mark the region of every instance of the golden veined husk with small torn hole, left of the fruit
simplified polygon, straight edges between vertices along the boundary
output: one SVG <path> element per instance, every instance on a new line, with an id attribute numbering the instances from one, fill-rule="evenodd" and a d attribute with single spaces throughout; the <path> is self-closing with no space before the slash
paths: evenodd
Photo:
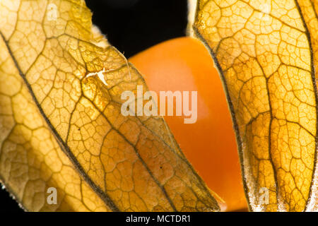
<path id="1" fill-rule="evenodd" d="M 49 4 L 57 6 L 56 20 L 48 19 Z M 122 54 L 92 28 L 91 13 L 84 1 L 1 1 L 0 12 L 1 22 L 5 22 L 0 27 L 1 51 L 6 52 L 1 62 L 9 62 L 11 67 L 1 67 L 1 77 L 10 71 L 31 106 L 28 114 L 16 113 L 19 123 L 28 127 L 28 132 L 20 129 L 20 133 L 23 136 L 30 133 L 25 137 L 25 143 L 30 145 L 23 143 L 21 151 L 40 152 L 46 160 L 48 150 L 45 149 L 50 146 L 42 144 L 44 147 L 37 148 L 30 139 L 42 138 L 42 133 L 35 133 L 37 128 L 48 133 L 47 142 L 54 144 L 57 155 L 50 157 L 48 162 L 38 160 L 41 167 L 52 167 L 63 177 L 64 184 L 74 184 L 73 178 L 81 182 L 81 189 L 61 187 L 65 196 L 76 194 L 81 204 L 84 196 L 91 196 L 90 202 L 85 203 L 88 210 L 100 210 L 101 201 L 105 210 L 114 211 L 219 210 L 216 200 L 184 158 L 161 117 L 124 117 L 120 113 L 122 92 L 136 93 L 137 85 L 143 85 L 146 92 L 146 84 Z M 104 74 L 107 85 L 98 76 L 86 78 L 88 73 L 102 69 L 107 71 Z M 8 88 L 4 90 L 8 92 Z M 19 93 L 17 90 L 6 95 L 8 106 L 14 106 L 13 96 Z M 5 104 L 1 101 L 1 105 Z M 12 123 L 11 126 L 8 122 L 1 123 L 8 127 L 1 131 L 2 147 L 8 139 L 15 141 L 10 134 L 18 119 L 10 111 L 13 110 L 7 107 L 0 112 L 3 122 L 11 120 Z M 40 127 L 36 122 L 41 122 Z M 16 151 L 11 147 L 10 153 L 17 155 Z M 10 174 L 16 172 L 12 169 L 14 161 L 4 151 L 1 156 L 1 161 L 5 162 L 0 165 L 4 184 L 8 184 L 28 210 L 44 210 L 45 189 L 28 194 L 24 200 L 25 190 L 11 183 Z M 72 174 L 61 173 L 56 163 L 60 156 L 69 161 Z M 15 169 L 17 167 L 20 165 Z M 24 162 L 24 167 L 33 176 L 33 165 Z M 41 167 L 37 169 L 37 180 L 42 186 L 48 186 L 49 172 Z M 35 188 L 31 176 L 15 175 Z M 93 195 L 88 195 L 89 192 Z M 30 200 L 33 206 L 29 205 Z M 69 206 L 75 208 L 76 204 Z"/>

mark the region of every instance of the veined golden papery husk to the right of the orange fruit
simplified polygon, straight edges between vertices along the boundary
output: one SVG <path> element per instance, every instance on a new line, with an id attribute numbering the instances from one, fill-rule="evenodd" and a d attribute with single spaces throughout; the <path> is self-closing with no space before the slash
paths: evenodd
<path id="1" fill-rule="evenodd" d="M 194 33 L 225 83 L 251 210 L 314 210 L 317 89 L 304 18 L 293 0 L 197 1 Z"/>

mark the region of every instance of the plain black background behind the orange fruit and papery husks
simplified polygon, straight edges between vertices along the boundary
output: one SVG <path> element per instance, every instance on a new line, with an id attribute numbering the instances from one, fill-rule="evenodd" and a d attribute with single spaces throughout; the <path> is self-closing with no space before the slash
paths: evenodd
<path id="1" fill-rule="evenodd" d="M 108 41 L 129 58 L 148 47 L 185 35 L 187 0 L 86 0 Z M 0 211 L 22 211 L 0 189 Z"/>

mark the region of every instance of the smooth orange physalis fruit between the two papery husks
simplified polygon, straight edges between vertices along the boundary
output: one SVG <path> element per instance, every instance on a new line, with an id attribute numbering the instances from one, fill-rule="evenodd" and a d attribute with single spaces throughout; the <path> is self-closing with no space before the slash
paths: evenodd
<path id="1" fill-rule="evenodd" d="M 184 117 L 165 120 L 196 172 L 223 198 L 226 210 L 246 210 L 230 111 L 220 76 L 204 44 L 192 37 L 177 38 L 129 61 L 158 96 L 159 91 L 198 91 L 195 124 L 184 124 Z"/>

